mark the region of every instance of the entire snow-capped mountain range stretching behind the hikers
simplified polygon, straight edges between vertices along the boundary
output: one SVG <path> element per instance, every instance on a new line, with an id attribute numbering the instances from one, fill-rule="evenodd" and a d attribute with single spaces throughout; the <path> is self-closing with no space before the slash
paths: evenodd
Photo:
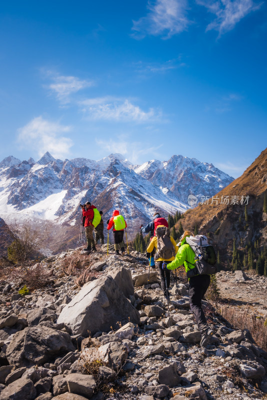
<path id="1" fill-rule="evenodd" d="M 26 216 L 75 226 L 80 223 L 79 203 L 89 200 L 106 219 L 119 209 L 134 232 L 155 210 L 165 217 L 184 212 L 188 194 L 212 195 L 231 180 L 212 164 L 182 156 L 139 166 L 121 154 L 98 161 L 62 161 L 48 152 L 37 162 L 9 156 L 0 163 L 0 216 L 7 222 Z"/>

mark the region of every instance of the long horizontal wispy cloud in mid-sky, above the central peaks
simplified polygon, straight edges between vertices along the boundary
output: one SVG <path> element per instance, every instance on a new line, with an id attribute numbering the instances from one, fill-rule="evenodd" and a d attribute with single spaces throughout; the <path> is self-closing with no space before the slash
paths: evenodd
<path id="1" fill-rule="evenodd" d="M 158 120 L 160 111 L 149 108 L 143 111 L 138 105 L 132 104 L 127 98 L 112 96 L 87 98 L 79 102 L 82 111 L 90 119 L 147 122 Z"/>

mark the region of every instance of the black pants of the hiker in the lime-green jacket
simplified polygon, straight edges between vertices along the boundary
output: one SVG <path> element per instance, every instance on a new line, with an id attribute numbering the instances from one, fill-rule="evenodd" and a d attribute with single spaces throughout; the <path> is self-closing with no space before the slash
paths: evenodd
<path id="1" fill-rule="evenodd" d="M 202 310 L 201 300 L 210 283 L 209 275 L 196 275 L 189 279 L 189 303 L 198 329 L 204 332 L 207 329 L 206 317 Z"/>

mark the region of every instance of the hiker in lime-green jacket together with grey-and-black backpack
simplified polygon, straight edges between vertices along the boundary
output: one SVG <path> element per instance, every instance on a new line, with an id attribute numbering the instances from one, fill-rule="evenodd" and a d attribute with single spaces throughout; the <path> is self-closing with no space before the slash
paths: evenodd
<path id="1" fill-rule="evenodd" d="M 170 270 L 184 265 L 189 280 L 189 303 L 191 311 L 201 332 L 200 345 L 205 346 L 213 340 L 214 331 L 208 327 L 201 300 L 208 289 L 210 274 L 216 273 L 216 255 L 204 235 L 194 236 L 185 230 L 180 237 L 180 247 L 175 259 L 163 267 Z"/>

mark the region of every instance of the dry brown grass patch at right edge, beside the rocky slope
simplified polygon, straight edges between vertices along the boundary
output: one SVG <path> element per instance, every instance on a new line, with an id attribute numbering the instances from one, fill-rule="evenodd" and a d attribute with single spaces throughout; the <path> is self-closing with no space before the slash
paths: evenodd
<path id="1" fill-rule="evenodd" d="M 219 313 L 234 328 L 248 329 L 255 343 L 267 351 L 267 326 L 263 318 L 249 312 L 248 306 L 243 310 L 238 310 L 235 307 L 220 304 Z"/>

